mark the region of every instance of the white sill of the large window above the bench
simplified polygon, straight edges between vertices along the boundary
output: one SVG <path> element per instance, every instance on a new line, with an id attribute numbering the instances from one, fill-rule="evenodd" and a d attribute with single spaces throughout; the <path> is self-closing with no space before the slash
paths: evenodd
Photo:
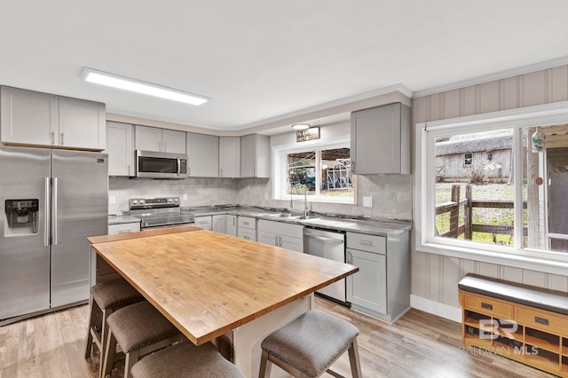
<path id="1" fill-rule="evenodd" d="M 435 242 L 416 246 L 416 251 L 418 252 L 568 276 L 568 255 L 566 254 L 542 251 L 533 252 L 515 248 L 510 248 L 509 250 L 510 252 L 464 248 Z"/>

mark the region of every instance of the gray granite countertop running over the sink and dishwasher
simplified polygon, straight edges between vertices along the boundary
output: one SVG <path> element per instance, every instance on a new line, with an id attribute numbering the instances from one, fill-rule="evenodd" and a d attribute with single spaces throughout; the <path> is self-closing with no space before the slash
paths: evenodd
<path id="1" fill-rule="evenodd" d="M 275 214 L 289 213 L 288 209 L 243 207 L 239 205 L 203 206 L 182 208 L 182 212 L 194 216 L 231 214 L 241 217 L 256 217 L 276 222 L 302 224 L 308 227 L 334 229 L 375 235 L 389 235 L 406 232 L 412 228 L 412 222 L 398 219 L 378 219 L 371 217 L 344 217 L 335 214 L 311 213 L 310 219 L 300 219 L 302 213 L 293 212 L 292 217 L 274 217 Z"/>

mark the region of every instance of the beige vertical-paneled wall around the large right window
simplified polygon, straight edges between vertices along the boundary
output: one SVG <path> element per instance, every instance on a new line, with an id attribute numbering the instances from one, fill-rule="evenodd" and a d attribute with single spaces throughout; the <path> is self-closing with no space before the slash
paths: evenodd
<path id="1" fill-rule="evenodd" d="M 566 100 L 568 66 L 562 66 L 414 98 L 413 122 L 438 121 Z M 467 272 L 568 291 L 568 277 L 565 276 L 413 250 L 412 294 L 426 302 L 459 307 L 457 283 Z"/>

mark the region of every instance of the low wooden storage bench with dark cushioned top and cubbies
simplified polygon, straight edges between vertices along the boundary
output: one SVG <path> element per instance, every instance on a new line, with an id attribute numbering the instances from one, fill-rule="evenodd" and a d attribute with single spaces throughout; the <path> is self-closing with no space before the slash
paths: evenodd
<path id="1" fill-rule="evenodd" d="M 467 275 L 459 283 L 466 346 L 568 377 L 568 295 Z"/>

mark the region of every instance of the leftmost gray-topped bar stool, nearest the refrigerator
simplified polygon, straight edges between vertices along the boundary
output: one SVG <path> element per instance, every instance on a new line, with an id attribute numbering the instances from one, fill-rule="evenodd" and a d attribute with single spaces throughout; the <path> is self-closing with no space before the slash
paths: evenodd
<path id="1" fill-rule="evenodd" d="M 108 335 L 108 325 L 106 318 L 114 311 L 121 309 L 132 303 L 144 300 L 138 291 L 124 279 L 108 280 L 99 282 L 91 287 L 91 320 L 87 330 L 87 346 L 85 348 L 85 358 L 91 358 L 93 343 L 97 345 L 100 353 L 100 366 Z"/>

